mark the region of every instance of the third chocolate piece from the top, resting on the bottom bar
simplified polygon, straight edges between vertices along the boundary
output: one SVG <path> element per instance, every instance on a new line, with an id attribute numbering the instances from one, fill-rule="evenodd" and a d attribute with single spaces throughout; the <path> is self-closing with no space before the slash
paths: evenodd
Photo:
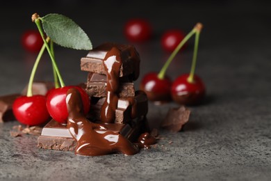
<path id="1" fill-rule="evenodd" d="M 106 100 L 102 97 L 90 108 L 89 118 L 100 120 L 101 106 Z M 146 116 L 148 112 L 147 95 L 143 91 L 136 91 L 135 97 L 120 97 L 115 111 L 115 123 L 129 123 L 134 118 Z"/>

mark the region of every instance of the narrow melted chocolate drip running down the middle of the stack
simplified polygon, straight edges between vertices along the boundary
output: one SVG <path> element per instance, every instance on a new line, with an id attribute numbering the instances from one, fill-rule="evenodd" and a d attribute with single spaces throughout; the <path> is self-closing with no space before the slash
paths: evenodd
<path id="1" fill-rule="evenodd" d="M 104 123 L 114 123 L 115 110 L 119 100 L 119 77 L 122 58 L 120 49 L 113 47 L 104 58 L 104 68 L 106 70 L 107 86 L 106 86 L 106 101 L 101 106 L 101 121 Z"/>

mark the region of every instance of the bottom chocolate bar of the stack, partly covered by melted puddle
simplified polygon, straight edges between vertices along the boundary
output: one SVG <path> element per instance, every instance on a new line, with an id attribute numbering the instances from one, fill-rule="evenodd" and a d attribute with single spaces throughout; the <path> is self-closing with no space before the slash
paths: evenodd
<path id="1" fill-rule="evenodd" d="M 140 127 L 144 120 L 134 120 L 133 126 L 124 124 L 106 124 L 106 132 L 115 132 L 124 136 L 129 141 L 135 141 L 140 134 Z M 99 123 L 103 125 L 103 123 Z M 99 132 L 99 130 L 96 130 Z M 76 148 L 76 141 L 72 139 L 66 125 L 61 125 L 55 120 L 51 120 L 42 129 L 41 136 L 38 137 L 38 148 L 45 148 L 51 150 L 74 150 Z"/>

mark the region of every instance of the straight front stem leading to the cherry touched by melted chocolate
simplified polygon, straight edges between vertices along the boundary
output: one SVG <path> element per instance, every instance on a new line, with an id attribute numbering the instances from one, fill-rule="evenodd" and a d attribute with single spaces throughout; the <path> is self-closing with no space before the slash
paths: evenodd
<path id="1" fill-rule="evenodd" d="M 49 56 L 51 58 L 51 62 L 53 64 L 53 66 L 54 66 L 54 70 L 56 70 L 56 74 L 58 75 L 60 86 L 64 87 L 65 84 L 64 84 L 64 81 L 63 81 L 63 79 L 61 77 L 61 74 L 60 74 L 60 72 L 58 70 L 58 65 L 56 65 L 56 60 L 55 60 L 54 56 L 51 54 L 51 50 L 50 50 L 50 47 L 49 47 L 47 41 L 44 39 L 44 33 L 43 33 L 43 30 L 42 30 L 42 26 L 40 24 L 40 17 L 35 19 L 35 24 L 38 26 L 38 30 L 40 31 L 40 35 L 42 36 L 42 40 L 43 40 L 43 42 L 44 42 L 44 44 L 46 46 L 46 49 L 47 49 L 47 51 L 49 53 Z"/>

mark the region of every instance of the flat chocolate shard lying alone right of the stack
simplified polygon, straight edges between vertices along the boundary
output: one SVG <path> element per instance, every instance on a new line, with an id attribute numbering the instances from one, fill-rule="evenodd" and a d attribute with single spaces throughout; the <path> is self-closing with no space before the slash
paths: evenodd
<path id="1" fill-rule="evenodd" d="M 185 125 L 190 117 L 190 110 L 184 106 L 177 108 L 170 108 L 167 116 L 161 123 L 161 127 L 170 130 L 171 132 L 179 132 L 183 125 Z"/>

